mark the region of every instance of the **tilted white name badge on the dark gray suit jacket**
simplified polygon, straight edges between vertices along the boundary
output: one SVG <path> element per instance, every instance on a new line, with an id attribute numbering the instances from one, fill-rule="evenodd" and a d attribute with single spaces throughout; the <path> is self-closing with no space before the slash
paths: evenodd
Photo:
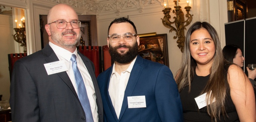
<path id="1" fill-rule="evenodd" d="M 45 67 L 48 75 L 67 71 L 67 66 L 66 66 L 64 60 L 51 62 L 51 63 L 45 63 L 44 67 Z"/>

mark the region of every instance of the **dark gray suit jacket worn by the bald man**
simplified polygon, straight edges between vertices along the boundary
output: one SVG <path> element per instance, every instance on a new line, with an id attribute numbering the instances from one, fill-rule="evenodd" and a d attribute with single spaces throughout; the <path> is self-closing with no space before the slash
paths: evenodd
<path id="1" fill-rule="evenodd" d="M 103 107 L 93 63 L 81 53 L 96 92 L 99 121 Z M 45 63 L 58 61 L 47 45 L 43 50 L 15 62 L 10 106 L 12 122 L 85 122 L 85 113 L 67 72 L 47 75 Z"/>

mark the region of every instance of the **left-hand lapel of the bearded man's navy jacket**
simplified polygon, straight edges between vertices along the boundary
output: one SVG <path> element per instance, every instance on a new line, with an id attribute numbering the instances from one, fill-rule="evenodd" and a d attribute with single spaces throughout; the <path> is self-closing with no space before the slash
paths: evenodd
<path id="1" fill-rule="evenodd" d="M 117 119 L 117 116 L 116 116 L 116 111 L 113 107 L 113 104 L 112 104 L 112 101 L 111 101 L 111 98 L 110 98 L 110 95 L 109 95 L 109 92 L 108 92 L 108 87 L 109 87 L 109 82 L 110 82 L 110 77 L 111 77 L 111 73 L 112 73 L 112 70 L 113 70 L 113 65 L 110 67 L 111 70 L 109 70 L 106 74 L 109 74 L 109 75 L 106 75 L 106 80 L 107 82 L 105 82 L 105 87 L 104 87 L 104 94 L 105 94 L 105 98 L 107 100 L 107 104 L 108 104 L 108 107 L 114 117 L 114 119 L 116 120 L 116 122 L 118 121 Z"/>

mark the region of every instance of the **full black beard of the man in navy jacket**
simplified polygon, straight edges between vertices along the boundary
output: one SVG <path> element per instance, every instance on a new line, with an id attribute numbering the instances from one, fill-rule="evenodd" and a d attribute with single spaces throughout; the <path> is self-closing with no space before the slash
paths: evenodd
<path id="1" fill-rule="evenodd" d="M 118 48 L 129 48 L 129 51 L 124 53 L 124 51 L 120 51 L 121 53 L 117 52 Z M 111 60 L 118 63 L 130 63 L 133 61 L 133 59 L 138 55 L 138 43 L 134 43 L 133 47 L 127 46 L 127 45 L 118 45 L 116 47 L 112 47 L 109 44 L 108 49 Z"/>

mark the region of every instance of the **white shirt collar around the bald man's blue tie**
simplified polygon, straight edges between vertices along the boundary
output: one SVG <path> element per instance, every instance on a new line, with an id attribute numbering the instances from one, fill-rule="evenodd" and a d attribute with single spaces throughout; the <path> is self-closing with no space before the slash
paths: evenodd
<path id="1" fill-rule="evenodd" d="M 68 51 L 62 47 L 59 47 L 59 46 L 53 44 L 52 42 L 49 42 L 49 45 L 56 55 L 61 56 L 62 58 L 66 59 L 68 62 L 70 62 L 72 54 L 76 55 L 76 61 L 79 62 L 79 59 L 77 57 L 77 55 L 78 55 L 77 49 L 74 51 L 74 53 L 71 53 L 70 51 Z"/>

